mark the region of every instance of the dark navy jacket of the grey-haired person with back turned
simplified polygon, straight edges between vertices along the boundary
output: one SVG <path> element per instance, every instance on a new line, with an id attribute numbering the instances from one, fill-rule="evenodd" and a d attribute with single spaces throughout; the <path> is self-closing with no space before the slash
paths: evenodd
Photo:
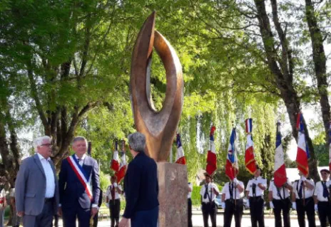
<path id="1" fill-rule="evenodd" d="M 158 206 L 158 167 L 144 152 L 138 153 L 128 164 L 124 191 L 125 218 L 131 218 L 137 211 L 148 211 Z"/>

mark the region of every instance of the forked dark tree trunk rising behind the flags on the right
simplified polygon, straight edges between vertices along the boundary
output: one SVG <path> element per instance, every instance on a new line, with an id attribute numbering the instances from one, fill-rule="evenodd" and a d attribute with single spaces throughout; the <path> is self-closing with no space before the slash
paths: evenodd
<path id="1" fill-rule="evenodd" d="M 280 23 L 277 18 L 277 1 L 271 1 L 273 7 L 273 21 L 275 23 L 275 28 L 277 34 L 280 38 L 280 44 L 282 46 L 282 56 L 278 56 L 275 49 L 275 38 L 273 32 L 271 31 L 270 20 L 268 14 L 265 10 L 265 1 L 264 0 L 255 0 L 255 6 L 258 13 L 258 21 L 260 33 L 263 39 L 263 46 L 265 48 L 265 54 L 268 60 L 268 67 L 273 73 L 275 83 L 277 88 L 280 90 L 280 95 L 282 100 L 285 102 L 287 109 L 287 114 L 290 118 L 290 124 L 292 127 L 292 135 L 297 141 L 297 113 L 300 112 L 300 98 L 297 95 L 297 92 L 293 86 L 293 65 L 292 65 L 292 56 L 291 51 L 287 43 L 287 38 L 285 33 L 280 27 Z M 281 59 L 280 61 L 278 59 Z M 280 65 L 280 66 L 278 66 Z M 305 127 L 305 138 L 310 151 L 310 176 L 315 180 L 320 179 L 320 175 L 317 171 L 317 162 L 315 160 L 314 147 L 312 147 L 312 140 L 310 139 L 309 132 L 307 130 L 307 125 L 304 121 Z"/>

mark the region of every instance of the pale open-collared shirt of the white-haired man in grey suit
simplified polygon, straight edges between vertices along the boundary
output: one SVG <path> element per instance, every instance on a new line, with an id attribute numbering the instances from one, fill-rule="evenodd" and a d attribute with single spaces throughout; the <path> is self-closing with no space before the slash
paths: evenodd
<path id="1" fill-rule="evenodd" d="M 55 179 L 54 179 L 54 172 L 51 168 L 51 164 L 49 161 L 50 158 L 45 159 L 41 154 L 37 153 L 40 159 L 41 165 L 43 166 L 44 173 L 46 176 L 46 192 L 45 198 L 53 198 L 55 193 Z"/>

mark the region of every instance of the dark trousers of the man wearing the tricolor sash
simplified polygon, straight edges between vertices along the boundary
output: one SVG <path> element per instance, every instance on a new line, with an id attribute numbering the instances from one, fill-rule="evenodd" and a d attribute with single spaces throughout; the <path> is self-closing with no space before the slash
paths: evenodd
<path id="1" fill-rule="evenodd" d="M 72 206 L 62 206 L 63 226 L 76 227 L 76 218 L 78 218 L 79 227 L 90 227 L 91 208 L 82 208 L 77 202 Z"/>

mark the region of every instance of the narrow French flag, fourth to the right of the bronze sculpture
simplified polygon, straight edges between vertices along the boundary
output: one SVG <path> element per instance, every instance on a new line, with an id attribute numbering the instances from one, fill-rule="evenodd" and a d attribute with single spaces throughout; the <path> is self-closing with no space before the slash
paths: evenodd
<path id="1" fill-rule="evenodd" d="M 245 167 L 250 172 L 254 174 L 256 171 L 256 162 L 254 156 L 254 143 L 252 139 L 252 129 L 253 129 L 253 120 L 252 118 L 245 120 L 245 131 L 247 133 L 247 143 L 245 151 Z"/>

